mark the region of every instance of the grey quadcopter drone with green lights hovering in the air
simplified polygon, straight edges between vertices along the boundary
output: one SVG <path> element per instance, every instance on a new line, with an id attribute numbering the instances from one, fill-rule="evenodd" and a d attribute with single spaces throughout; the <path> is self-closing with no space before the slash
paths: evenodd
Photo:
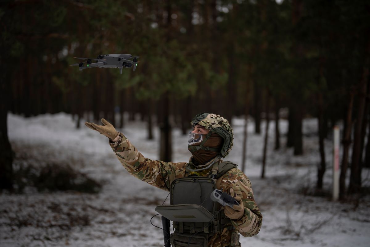
<path id="1" fill-rule="evenodd" d="M 88 68 L 119 68 L 120 74 L 122 74 L 122 68 L 131 68 L 134 66 L 134 71 L 136 69 L 136 66 L 138 65 L 138 56 L 132 57 L 131 54 L 107 54 L 107 55 L 99 55 L 96 59 L 90 59 L 85 57 L 74 57 L 81 60 L 86 60 L 82 63 L 75 63 L 71 64 L 71 66 L 77 66 L 80 67 L 80 71 L 83 69 Z M 129 60 L 133 58 L 132 60 Z M 96 63 L 92 63 L 92 60 L 96 61 Z M 84 63 L 86 65 L 84 66 Z"/>

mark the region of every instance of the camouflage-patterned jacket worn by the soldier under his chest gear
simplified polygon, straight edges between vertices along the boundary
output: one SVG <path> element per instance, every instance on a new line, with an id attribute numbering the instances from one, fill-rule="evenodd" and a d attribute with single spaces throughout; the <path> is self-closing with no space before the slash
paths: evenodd
<path id="1" fill-rule="evenodd" d="M 186 171 L 187 162 L 172 163 L 145 158 L 121 133 L 120 140 L 115 143 L 110 141 L 110 146 L 130 174 L 162 190 L 169 191 L 176 178 L 191 175 Z M 262 224 L 262 214 L 255 203 L 250 181 L 242 171 L 233 168 L 225 173 L 221 180 L 221 189 L 233 197 L 242 198 L 244 216 L 239 220 L 231 220 L 235 230 L 224 228 L 221 234 L 210 237 L 208 246 L 212 247 L 229 246 L 233 231 L 238 231 L 244 237 L 252 237 L 259 232 Z"/>

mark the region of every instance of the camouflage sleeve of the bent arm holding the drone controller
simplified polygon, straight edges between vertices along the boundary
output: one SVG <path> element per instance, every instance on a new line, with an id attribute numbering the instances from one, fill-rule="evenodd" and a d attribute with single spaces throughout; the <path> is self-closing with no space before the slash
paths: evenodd
<path id="1" fill-rule="evenodd" d="M 235 229 L 244 237 L 258 234 L 262 225 L 262 214 L 254 200 L 252 185 L 248 177 L 238 168 L 233 168 L 223 176 L 221 188 L 233 197 L 242 198 L 244 216 L 239 220 L 231 220 Z"/>

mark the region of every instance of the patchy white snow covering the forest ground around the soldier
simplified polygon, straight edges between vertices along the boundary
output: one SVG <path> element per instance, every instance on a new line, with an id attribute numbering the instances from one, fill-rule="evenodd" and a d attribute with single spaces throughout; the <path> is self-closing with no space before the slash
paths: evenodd
<path id="1" fill-rule="evenodd" d="M 71 115 L 46 114 L 24 118 L 8 115 L 9 139 L 14 151 L 28 158 L 70 164 L 101 181 L 98 194 L 37 192 L 27 188 L 23 194 L 0 194 L 0 246 L 163 246 L 162 230 L 151 226 L 155 206 L 162 204 L 166 191 L 132 176 L 115 158 L 106 137 L 85 127 L 76 129 Z M 227 160 L 241 162 L 243 119 L 233 119 L 233 150 Z M 262 124 L 262 130 L 264 130 Z M 370 198 L 358 204 L 339 203 L 329 197 L 307 196 L 316 184 L 319 164 L 315 119 L 303 123 L 304 155 L 293 150 L 273 151 L 272 123 L 269 128 L 266 178 L 260 178 L 263 133 L 253 133 L 248 123 L 245 173 L 252 181 L 256 202 L 263 214 L 260 233 L 241 237 L 242 246 L 369 246 Z M 280 122 L 286 133 L 287 122 Z M 146 140 L 146 125 L 127 123 L 124 133 L 145 157 L 158 159 L 158 129 L 155 140 Z M 187 136 L 174 129 L 173 161 L 187 161 Z M 324 192 L 330 193 L 332 144 L 326 141 L 327 171 Z M 240 167 L 240 166 L 239 166 Z M 369 187 L 363 170 L 364 184 Z M 168 203 L 168 202 L 166 202 Z M 160 217 L 152 222 L 161 226 Z"/>

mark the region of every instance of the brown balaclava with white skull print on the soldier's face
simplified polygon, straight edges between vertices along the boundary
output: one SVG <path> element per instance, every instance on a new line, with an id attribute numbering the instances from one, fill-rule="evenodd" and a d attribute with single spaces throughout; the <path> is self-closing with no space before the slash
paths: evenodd
<path id="1" fill-rule="evenodd" d="M 196 134 L 199 135 L 199 134 Z M 204 138 L 206 134 L 201 138 Z M 200 136 L 200 135 L 199 135 Z M 196 137 L 197 138 L 197 137 Z M 190 142 L 190 138 L 189 138 Z M 217 133 L 212 132 L 211 137 L 208 138 L 208 140 L 203 144 L 203 147 L 210 147 L 210 148 L 216 148 L 217 150 L 221 150 L 223 144 L 223 139 L 221 136 L 219 136 Z M 191 146 L 199 146 L 200 142 L 198 143 L 189 143 Z M 190 151 L 190 149 L 189 149 Z M 220 155 L 219 151 L 211 151 L 211 150 L 204 150 L 204 149 L 199 149 L 196 151 L 192 152 L 193 158 L 194 158 L 194 164 L 201 166 L 206 164 L 209 160 L 212 158 Z"/>

